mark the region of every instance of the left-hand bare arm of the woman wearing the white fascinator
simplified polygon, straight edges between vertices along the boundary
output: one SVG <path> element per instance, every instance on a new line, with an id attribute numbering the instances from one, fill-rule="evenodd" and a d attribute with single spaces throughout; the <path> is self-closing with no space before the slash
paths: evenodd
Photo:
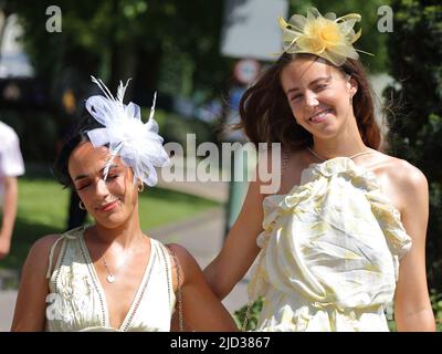
<path id="1" fill-rule="evenodd" d="M 55 235 L 41 238 L 32 246 L 28 254 L 22 269 L 12 332 L 44 331 L 45 301 L 49 293 L 45 275 L 50 249 L 57 238 L 59 236 Z M 54 259 L 56 259 L 56 252 L 54 252 Z"/>

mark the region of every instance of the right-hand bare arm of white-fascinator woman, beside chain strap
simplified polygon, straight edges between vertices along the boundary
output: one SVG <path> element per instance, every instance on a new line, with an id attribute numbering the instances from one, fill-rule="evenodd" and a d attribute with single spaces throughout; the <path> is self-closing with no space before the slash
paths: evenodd
<path id="1" fill-rule="evenodd" d="M 194 258 L 182 247 L 169 244 L 180 267 L 180 287 L 185 331 L 238 331 L 232 316 L 213 294 Z M 173 264 L 173 288 L 178 288 L 177 264 Z M 172 319 L 172 331 L 179 330 L 179 303 Z"/>

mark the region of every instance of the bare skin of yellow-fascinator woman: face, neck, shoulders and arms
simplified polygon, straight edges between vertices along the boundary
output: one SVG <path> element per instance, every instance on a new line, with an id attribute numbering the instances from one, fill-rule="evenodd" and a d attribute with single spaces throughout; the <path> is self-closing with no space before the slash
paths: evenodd
<path id="1" fill-rule="evenodd" d="M 382 192 L 399 210 L 413 242 L 400 262 L 394 294 L 397 329 L 434 331 L 425 272 L 427 178 L 406 160 L 370 149 L 364 144 L 351 101 L 358 85 L 351 76 L 324 60 L 307 56 L 297 58 L 284 67 L 281 84 L 294 119 L 313 135 L 313 149 L 319 156 L 328 159 L 371 152 L 354 158 L 354 162 L 375 174 Z M 325 114 L 317 115 L 320 112 Z M 292 152 L 277 194 L 291 191 L 301 184 L 302 171 L 311 164 L 320 162 L 307 149 Z M 265 164 L 270 169 L 271 154 Z M 204 269 L 208 282 L 220 299 L 227 296 L 244 277 L 261 250 L 256 246 L 256 237 L 263 231 L 262 204 L 266 195 L 261 192 L 261 187 L 264 184 L 260 179 L 250 183 L 242 210 L 229 231 L 223 249 Z"/>

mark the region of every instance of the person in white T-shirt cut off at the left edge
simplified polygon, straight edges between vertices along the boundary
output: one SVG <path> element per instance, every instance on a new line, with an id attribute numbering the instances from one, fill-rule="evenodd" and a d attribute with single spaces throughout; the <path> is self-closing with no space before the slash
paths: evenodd
<path id="1" fill-rule="evenodd" d="M 8 256 L 17 217 L 18 176 L 24 174 L 20 140 L 15 132 L 0 122 L 0 259 Z"/>

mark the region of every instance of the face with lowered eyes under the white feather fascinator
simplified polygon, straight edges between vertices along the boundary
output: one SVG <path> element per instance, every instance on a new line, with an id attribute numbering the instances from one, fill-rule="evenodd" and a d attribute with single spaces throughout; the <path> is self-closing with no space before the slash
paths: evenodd
<path id="1" fill-rule="evenodd" d="M 116 156 L 104 180 L 104 167 L 109 159 L 107 147 L 94 148 L 81 143 L 69 158 L 69 173 L 80 198 L 91 216 L 105 228 L 116 228 L 138 210 L 134 174 Z"/>

